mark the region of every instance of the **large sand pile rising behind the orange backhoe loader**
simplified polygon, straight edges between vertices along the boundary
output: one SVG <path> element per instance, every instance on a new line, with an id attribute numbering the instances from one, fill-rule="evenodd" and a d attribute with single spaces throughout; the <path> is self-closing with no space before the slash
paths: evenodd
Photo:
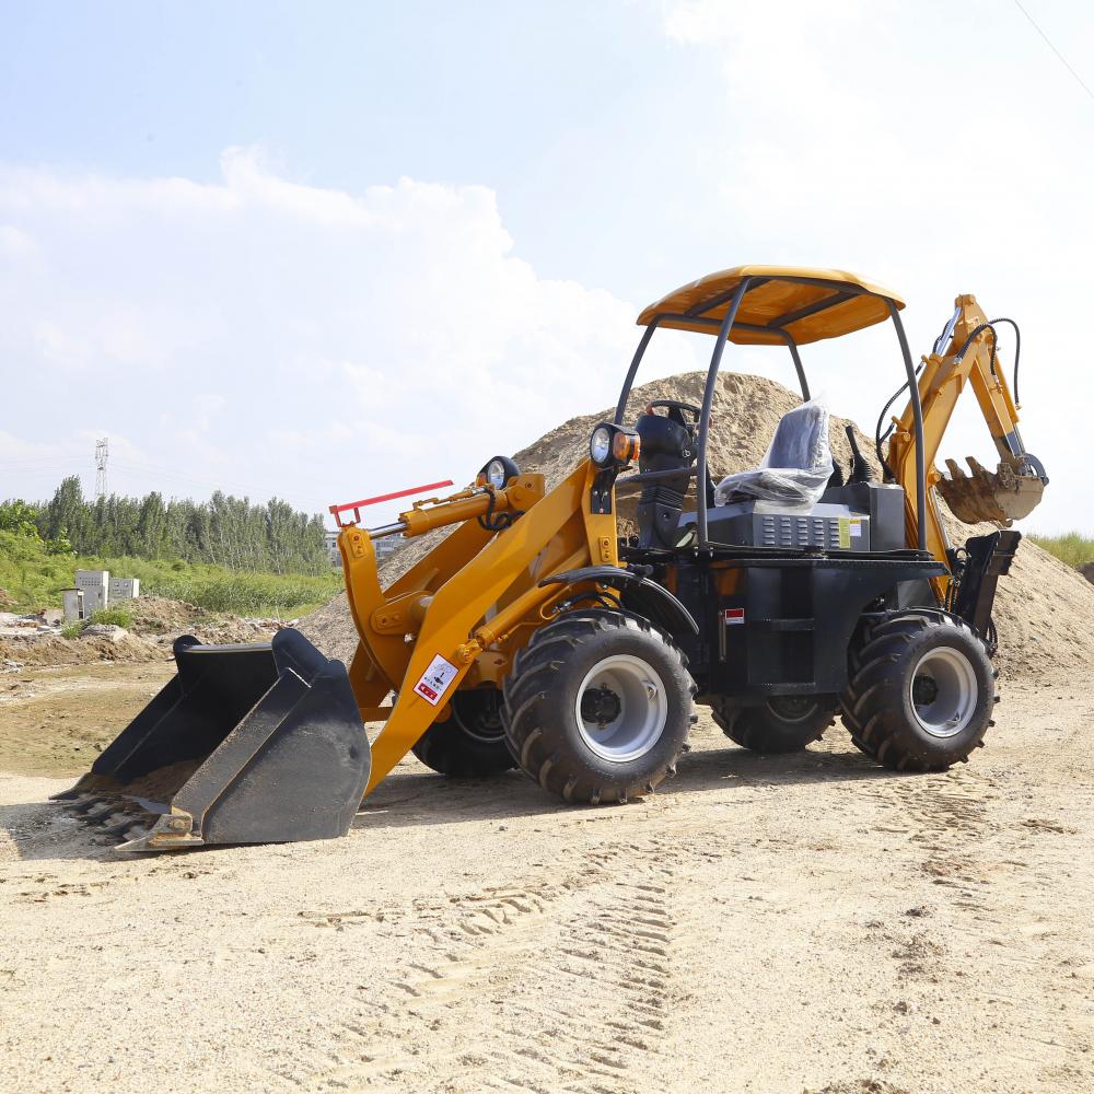
<path id="1" fill-rule="evenodd" d="M 628 404 L 627 421 L 632 421 L 651 399 L 677 399 L 698 405 L 702 399 L 705 374 L 700 372 L 653 381 L 636 388 Z M 711 414 L 708 463 L 715 481 L 723 475 L 755 467 L 763 458 L 775 428 L 787 410 L 796 406 L 800 396 L 759 376 L 722 373 Z M 587 452 L 589 434 L 598 421 L 610 419 L 613 410 L 571 418 L 516 453 L 522 470 L 539 472 L 548 488 L 566 477 Z M 843 432 L 843 419 L 831 419 L 833 457 L 846 469 L 851 450 Z M 854 427 L 859 449 L 877 473 L 873 442 Z M 635 499 L 621 498 L 620 514 L 633 512 Z M 969 526 L 947 517 L 954 543 L 970 535 L 991 531 L 987 525 Z M 439 534 L 434 534 L 437 536 Z M 399 550 L 384 567 L 385 584 L 394 581 L 437 539 L 415 540 Z M 1075 671 L 1090 673 L 1094 666 L 1094 585 L 1064 566 L 1036 544 L 1025 540 L 1011 568 L 1000 580 L 994 619 L 1000 649 L 997 662 L 1011 676 L 1041 677 L 1059 671 L 1062 676 Z M 302 619 L 300 629 L 328 656 L 348 661 L 357 648 L 357 633 L 349 616 L 345 593 L 325 607 Z"/>

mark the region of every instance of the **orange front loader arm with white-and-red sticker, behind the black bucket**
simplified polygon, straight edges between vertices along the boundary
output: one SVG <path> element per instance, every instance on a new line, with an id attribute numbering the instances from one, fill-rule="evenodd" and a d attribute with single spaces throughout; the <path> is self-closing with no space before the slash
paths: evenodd
<path id="1" fill-rule="evenodd" d="M 540 626 L 572 594 L 543 584 L 590 563 L 618 566 L 614 507 L 593 512 L 596 468 L 585 461 L 546 497 L 543 477 L 522 475 L 493 493 L 463 491 L 400 514 L 406 536 L 459 524 L 388 590 L 380 587 L 370 533 L 339 534 L 350 610 L 360 643 L 350 673 L 363 721 L 383 720 L 372 744 L 372 791 L 465 683 L 500 683 L 510 640 Z M 517 514 L 484 531 L 487 512 Z M 476 679 L 467 680 L 469 674 Z M 395 691 L 391 708 L 379 703 Z"/>

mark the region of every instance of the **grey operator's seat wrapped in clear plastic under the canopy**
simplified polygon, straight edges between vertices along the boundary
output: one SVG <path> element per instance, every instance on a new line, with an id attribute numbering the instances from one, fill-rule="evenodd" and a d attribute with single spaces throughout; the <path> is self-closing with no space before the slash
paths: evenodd
<path id="1" fill-rule="evenodd" d="M 718 484 L 714 504 L 761 500 L 810 510 L 821 500 L 833 469 L 828 410 L 810 400 L 782 416 L 759 467 L 726 475 Z"/>

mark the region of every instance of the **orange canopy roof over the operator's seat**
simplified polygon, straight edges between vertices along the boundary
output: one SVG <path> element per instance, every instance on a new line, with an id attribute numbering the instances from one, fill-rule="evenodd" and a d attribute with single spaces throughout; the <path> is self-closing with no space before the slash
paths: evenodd
<path id="1" fill-rule="evenodd" d="M 746 277 L 754 278 L 755 284 L 745 292 L 730 334 L 730 340 L 742 346 L 784 345 L 779 331 L 789 334 L 799 346 L 838 338 L 887 319 L 886 300 L 904 307 L 895 292 L 847 270 L 735 266 L 668 293 L 647 307 L 638 322 L 648 326 L 657 315 L 668 313 L 675 317 L 662 319 L 659 326 L 717 334 L 718 327 L 710 321 L 725 318 L 733 290 Z"/>

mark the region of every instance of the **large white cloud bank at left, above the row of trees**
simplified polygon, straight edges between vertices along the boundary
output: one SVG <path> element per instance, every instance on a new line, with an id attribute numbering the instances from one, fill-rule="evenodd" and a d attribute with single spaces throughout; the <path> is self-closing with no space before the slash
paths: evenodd
<path id="1" fill-rule="evenodd" d="M 240 149 L 222 170 L 201 185 L 0 168 L 14 432 L 46 416 L 54 437 L 125 433 L 118 490 L 222 485 L 321 510 L 467 481 L 613 401 L 635 307 L 539 278 L 491 190 L 351 195 Z M 48 489 L 16 475 L 3 492 L 31 486 Z"/>

